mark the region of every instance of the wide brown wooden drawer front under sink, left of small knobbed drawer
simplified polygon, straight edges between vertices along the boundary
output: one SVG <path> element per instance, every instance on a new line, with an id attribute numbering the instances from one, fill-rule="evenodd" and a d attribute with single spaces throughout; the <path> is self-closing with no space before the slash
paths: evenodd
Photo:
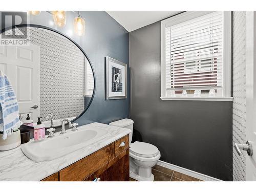
<path id="1" fill-rule="evenodd" d="M 60 181 L 82 181 L 114 158 L 114 143 L 59 171 Z"/>

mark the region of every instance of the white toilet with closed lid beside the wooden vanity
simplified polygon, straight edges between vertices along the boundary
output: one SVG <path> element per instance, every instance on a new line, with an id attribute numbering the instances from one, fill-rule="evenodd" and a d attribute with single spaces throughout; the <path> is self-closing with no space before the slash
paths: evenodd
<path id="1" fill-rule="evenodd" d="M 153 181 L 151 170 L 157 164 L 161 155 L 158 148 L 150 143 L 135 141 L 132 143 L 133 120 L 121 119 L 111 122 L 110 125 L 124 127 L 132 130 L 130 133 L 130 177 L 138 181 Z"/>

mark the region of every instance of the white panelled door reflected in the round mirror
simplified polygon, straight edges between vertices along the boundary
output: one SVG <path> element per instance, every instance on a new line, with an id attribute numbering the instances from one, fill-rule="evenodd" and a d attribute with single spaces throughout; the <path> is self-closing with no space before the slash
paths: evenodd
<path id="1" fill-rule="evenodd" d="M 19 113 L 30 113 L 36 121 L 40 116 L 40 47 L 0 46 L 0 70 L 12 84 Z"/>

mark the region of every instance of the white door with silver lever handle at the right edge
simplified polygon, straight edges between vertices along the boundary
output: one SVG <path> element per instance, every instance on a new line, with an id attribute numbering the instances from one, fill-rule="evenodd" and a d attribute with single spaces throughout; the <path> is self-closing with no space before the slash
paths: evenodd
<path id="1" fill-rule="evenodd" d="M 246 11 L 246 181 L 256 181 L 256 12 Z"/>

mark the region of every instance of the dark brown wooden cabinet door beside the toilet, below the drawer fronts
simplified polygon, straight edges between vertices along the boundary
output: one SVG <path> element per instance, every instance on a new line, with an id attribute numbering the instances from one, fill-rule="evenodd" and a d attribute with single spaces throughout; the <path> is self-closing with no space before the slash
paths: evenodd
<path id="1" fill-rule="evenodd" d="M 84 181 L 93 181 L 95 178 L 100 178 L 100 181 L 129 181 L 129 174 L 129 149 L 127 149 Z"/>

